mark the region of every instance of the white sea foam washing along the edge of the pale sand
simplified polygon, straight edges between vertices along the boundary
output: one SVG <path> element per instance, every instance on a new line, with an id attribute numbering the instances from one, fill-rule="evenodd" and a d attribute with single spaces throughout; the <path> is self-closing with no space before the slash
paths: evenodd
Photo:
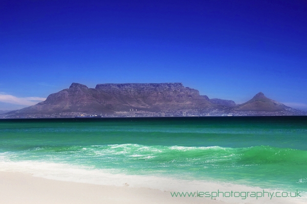
<path id="1" fill-rule="evenodd" d="M 69 164 L 58 164 L 35 161 L 12 162 L 0 160 L 0 171 L 31 173 L 33 176 L 46 179 L 69 181 L 78 183 L 89 183 L 96 185 L 129 186 L 132 188 L 149 188 L 170 192 L 262 192 L 281 191 L 278 189 L 261 189 L 258 187 L 249 187 L 244 185 L 235 185 L 230 183 L 217 183 L 210 181 L 188 181 L 173 179 L 170 177 L 150 176 L 150 175 L 127 175 L 124 173 L 111 173 L 112 170 L 91 169 L 88 167 L 75 166 Z M 301 194 L 302 198 L 228 198 L 217 197 L 217 200 L 235 203 L 305 203 L 307 197 Z"/>

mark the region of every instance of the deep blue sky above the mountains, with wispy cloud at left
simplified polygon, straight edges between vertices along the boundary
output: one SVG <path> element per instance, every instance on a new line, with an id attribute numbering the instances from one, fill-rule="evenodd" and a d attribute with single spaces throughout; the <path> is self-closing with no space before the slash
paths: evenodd
<path id="1" fill-rule="evenodd" d="M 77 82 L 182 82 L 244 103 L 258 92 L 307 110 L 307 2 L 0 3 L 0 110 Z"/>

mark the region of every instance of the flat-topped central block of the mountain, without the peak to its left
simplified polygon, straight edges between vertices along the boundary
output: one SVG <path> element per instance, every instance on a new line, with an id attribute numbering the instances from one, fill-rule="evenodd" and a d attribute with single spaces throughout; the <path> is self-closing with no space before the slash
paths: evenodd
<path id="1" fill-rule="evenodd" d="M 182 83 L 98 84 L 95 89 L 114 97 L 111 103 L 114 110 L 137 108 L 159 111 L 212 105 L 200 96 L 198 90 L 184 87 Z"/>

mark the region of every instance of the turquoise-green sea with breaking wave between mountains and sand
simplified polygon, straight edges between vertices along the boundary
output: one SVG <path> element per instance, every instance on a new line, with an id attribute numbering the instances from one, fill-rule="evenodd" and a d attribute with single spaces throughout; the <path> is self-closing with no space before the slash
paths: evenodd
<path id="1" fill-rule="evenodd" d="M 6 171 L 48 163 L 307 189 L 305 116 L 0 120 L 0 144 Z"/>

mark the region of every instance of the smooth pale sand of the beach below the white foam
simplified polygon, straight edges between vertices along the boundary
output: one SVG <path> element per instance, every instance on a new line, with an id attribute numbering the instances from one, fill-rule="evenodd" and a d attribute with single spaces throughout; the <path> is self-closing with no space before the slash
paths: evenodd
<path id="1" fill-rule="evenodd" d="M 294 198 L 172 197 L 170 191 L 143 187 L 96 185 L 36 177 L 30 173 L 0 171 L 0 203 L 305 203 Z M 212 188 L 212 187 L 209 187 Z M 230 189 L 231 187 L 229 187 Z M 223 189 L 222 189 L 223 190 Z M 224 189 L 225 190 L 225 189 Z"/>

